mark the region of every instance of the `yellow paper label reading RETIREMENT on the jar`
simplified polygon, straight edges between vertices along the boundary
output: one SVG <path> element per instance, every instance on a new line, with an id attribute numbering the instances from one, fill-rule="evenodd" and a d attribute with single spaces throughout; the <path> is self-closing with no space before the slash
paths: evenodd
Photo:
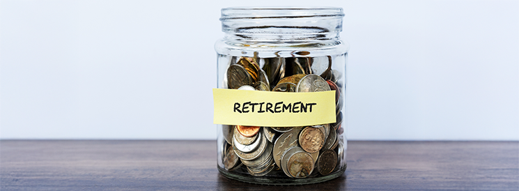
<path id="1" fill-rule="evenodd" d="M 335 123 L 335 91 L 212 89 L 215 124 L 293 127 Z"/>

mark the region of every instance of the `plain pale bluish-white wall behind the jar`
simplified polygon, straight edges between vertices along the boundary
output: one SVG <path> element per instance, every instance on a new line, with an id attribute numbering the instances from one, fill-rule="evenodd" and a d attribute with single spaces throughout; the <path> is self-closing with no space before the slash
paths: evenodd
<path id="1" fill-rule="evenodd" d="M 228 6 L 337 6 L 348 139 L 519 140 L 519 1 L 1 1 L 1 139 L 215 139 Z"/>

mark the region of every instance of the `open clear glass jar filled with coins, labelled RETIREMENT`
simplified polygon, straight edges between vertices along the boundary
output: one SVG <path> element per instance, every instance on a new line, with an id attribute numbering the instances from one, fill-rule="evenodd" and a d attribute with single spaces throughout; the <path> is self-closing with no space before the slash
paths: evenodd
<path id="1" fill-rule="evenodd" d="M 287 126 L 285 122 L 295 124 L 306 119 L 320 119 L 321 116 L 287 117 L 281 121 L 258 116 L 254 118 L 261 121 L 258 124 L 219 124 L 217 167 L 220 173 L 238 181 L 267 185 L 318 183 L 344 173 L 346 123 L 343 119 L 346 119 L 349 46 L 339 39 L 343 16 L 342 8 L 222 9 L 220 20 L 225 36 L 215 44 L 218 89 L 249 90 L 247 93 L 254 91 L 256 94 L 261 91 L 283 92 L 272 96 L 258 95 L 272 98 L 332 91 L 332 97 L 327 98 L 332 99 L 333 111 L 325 116 L 334 120 L 323 124 L 304 122 L 306 124 Z M 231 95 L 241 92 L 244 91 L 219 96 L 228 96 L 222 99 L 232 100 L 235 97 Z M 217 95 L 214 96 L 216 119 L 221 111 L 216 106 Z M 237 108 L 240 114 L 250 109 L 252 112 L 254 109 L 260 113 L 263 111 L 263 103 L 235 104 L 238 104 L 235 113 Z M 307 112 L 307 109 L 311 112 L 312 109 L 308 103 L 291 104 L 279 107 L 271 104 L 270 111 L 272 114 L 281 110 L 293 114 Z M 313 106 L 317 108 L 317 105 Z M 267 123 L 263 122 L 269 123 L 265 125 Z"/>

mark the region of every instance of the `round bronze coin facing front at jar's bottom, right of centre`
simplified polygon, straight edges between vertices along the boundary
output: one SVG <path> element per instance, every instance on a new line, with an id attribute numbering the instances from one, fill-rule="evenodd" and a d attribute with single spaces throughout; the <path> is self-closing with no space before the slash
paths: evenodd
<path id="1" fill-rule="evenodd" d="M 294 178 L 306 178 L 312 173 L 313 166 L 313 158 L 304 151 L 291 155 L 286 164 L 288 173 Z"/>

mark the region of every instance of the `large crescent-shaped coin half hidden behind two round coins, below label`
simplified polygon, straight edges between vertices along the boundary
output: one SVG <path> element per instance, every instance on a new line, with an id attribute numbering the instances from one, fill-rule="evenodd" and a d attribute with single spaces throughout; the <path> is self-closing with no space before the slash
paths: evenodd
<path id="1" fill-rule="evenodd" d="M 278 167 L 281 167 L 281 155 L 290 147 L 297 146 L 297 138 L 301 132 L 300 129 L 294 128 L 288 132 L 284 132 L 274 142 L 272 155 L 274 155 L 274 162 Z"/>

